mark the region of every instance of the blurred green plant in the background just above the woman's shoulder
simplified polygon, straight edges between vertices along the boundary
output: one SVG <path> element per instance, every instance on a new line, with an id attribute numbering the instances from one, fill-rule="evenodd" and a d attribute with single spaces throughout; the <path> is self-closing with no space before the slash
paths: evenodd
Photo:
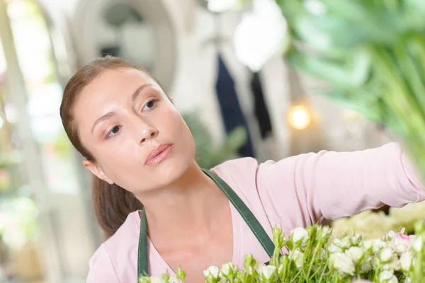
<path id="1" fill-rule="evenodd" d="M 237 151 L 246 143 L 246 129 L 237 127 L 229 133 L 224 144 L 215 144 L 208 129 L 196 112 L 183 114 L 196 145 L 196 158 L 201 168 L 212 168 L 229 159 L 237 158 Z"/>

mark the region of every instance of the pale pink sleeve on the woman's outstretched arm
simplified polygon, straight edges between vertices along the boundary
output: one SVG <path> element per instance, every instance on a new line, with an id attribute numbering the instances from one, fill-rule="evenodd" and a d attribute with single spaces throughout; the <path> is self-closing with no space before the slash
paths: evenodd
<path id="1" fill-rule="evenodd" d="M 378 149 L 320 151 L 268 161 L 257 172 L 269 218 L 288 229 L 337 219 L 387 204 L 425 199 L 407 156 L 396 143 Z"/>

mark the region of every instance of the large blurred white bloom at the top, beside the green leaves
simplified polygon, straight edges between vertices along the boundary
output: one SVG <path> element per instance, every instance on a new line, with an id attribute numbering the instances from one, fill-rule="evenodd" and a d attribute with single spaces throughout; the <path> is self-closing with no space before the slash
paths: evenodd
<path id="1" fill-rule="evenodd" d="M 225 0 L 223 0 L 225 1 Z M 288 46 L 288 25 L 273 0 L 254 0 L 234 31 L 237 59 L 252 71 L 259 71 L 268 59 Z"/>

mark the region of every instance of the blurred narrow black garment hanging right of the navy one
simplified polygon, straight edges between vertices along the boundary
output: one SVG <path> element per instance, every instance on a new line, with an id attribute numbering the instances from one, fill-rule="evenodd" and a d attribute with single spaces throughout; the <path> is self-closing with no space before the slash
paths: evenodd
<path id="1" fill-rule="evenodd" d="M 254 114 L 259 124 L 261 138 L 266 138 L 271 134 L 271 119 L 268 113 L 266 101 L 264 100 L 263 87 L 258 72 L 254 72 L 251 77 L 251 92 L 254 96 Z"/>

